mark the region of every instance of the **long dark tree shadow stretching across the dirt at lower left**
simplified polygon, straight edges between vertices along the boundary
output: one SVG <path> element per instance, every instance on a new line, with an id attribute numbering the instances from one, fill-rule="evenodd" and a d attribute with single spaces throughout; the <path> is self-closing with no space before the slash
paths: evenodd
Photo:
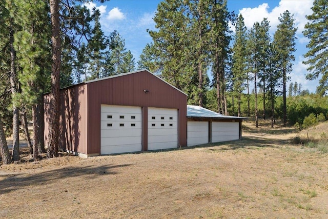
<path id="1" fill-rule="evenodd" d="M 60 169 L 45 171 L 33 174 L 2 174 L 5 178 L 0 180 L 0 194 L 8 193 L 17 188 L 23 188 L 30 185 L 48 184 L 50 181 L 75 177 L 80 175 L 96 178 L 101 175 L 113 175 L 118 172 L 115 169 L 131 166 L 131 164 L 123 165 L 102 165 L 102 166 L 86 166 L 86 167 L 64 167 Z"/>

